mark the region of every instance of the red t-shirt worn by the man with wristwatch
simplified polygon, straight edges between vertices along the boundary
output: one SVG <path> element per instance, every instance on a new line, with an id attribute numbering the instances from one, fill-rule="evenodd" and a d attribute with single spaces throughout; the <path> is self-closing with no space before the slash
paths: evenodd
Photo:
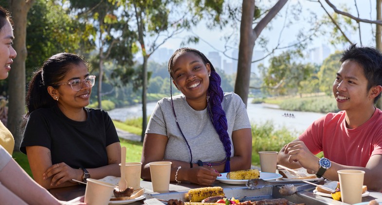
<path id="1" fill-rule="evenodd" d="M 345 111 L 328 113 L 299 139 L 313 154 L 323 151 L 338 164 L 366 167 L 372 155 L 382 154 L 382 111 L 376 108 L 373 116 L 355 129 L 346 128 Z"/>

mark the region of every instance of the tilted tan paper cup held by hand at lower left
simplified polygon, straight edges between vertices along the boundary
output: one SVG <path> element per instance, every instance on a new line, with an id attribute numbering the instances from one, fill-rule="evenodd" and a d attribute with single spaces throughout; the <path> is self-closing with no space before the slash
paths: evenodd
<path id="1" fill-rule="evenodd" d="M 107 205 L 113 195 L 115 185 L 97 179 L 87 179 L 85 203 L 88 205 Z"/>

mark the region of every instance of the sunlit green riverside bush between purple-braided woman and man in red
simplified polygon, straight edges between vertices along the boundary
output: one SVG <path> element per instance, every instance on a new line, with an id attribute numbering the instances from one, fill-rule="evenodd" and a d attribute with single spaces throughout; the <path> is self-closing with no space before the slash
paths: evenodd
<path id="1" fill-rule="evenodd" d="M 252 163 L 258 165 L 260 151 L 280 151 L 281 148 L 298 137 L 286 127 L 275 128 L 272 121 L 252 125 Z"/>

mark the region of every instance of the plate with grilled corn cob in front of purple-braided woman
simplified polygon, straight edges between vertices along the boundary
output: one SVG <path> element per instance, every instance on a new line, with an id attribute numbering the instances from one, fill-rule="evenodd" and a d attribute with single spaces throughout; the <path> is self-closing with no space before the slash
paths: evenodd
<path id="1" fill-rule="evenodd" d="M 274 179 L 279 179 L 282 177 L 282 175 L 278 173 L 259 172 L 256 169 L 231 171 L 231 172 L 224 172 L 220 174 L 221 176 L 218 176 L 216 180 L 225 184 L 233 184 L 233 185 L 245 185 L 245 183 L 249 179 L 260 178 L 263 180 L 274 180 Z"/>

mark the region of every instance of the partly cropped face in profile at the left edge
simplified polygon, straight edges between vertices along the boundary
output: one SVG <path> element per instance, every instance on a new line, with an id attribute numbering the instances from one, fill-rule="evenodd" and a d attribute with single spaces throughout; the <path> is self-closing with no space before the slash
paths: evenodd
<path id="1" fill-rule="evenodd" d="M 8 72 L 11 70 L 13 58 L 16 58 L 16 51 L 12 47 L 13 43 L 13 28 L 7 20 L 5 25 L 0 30 L 0 80 L 8 77 Z"/>

